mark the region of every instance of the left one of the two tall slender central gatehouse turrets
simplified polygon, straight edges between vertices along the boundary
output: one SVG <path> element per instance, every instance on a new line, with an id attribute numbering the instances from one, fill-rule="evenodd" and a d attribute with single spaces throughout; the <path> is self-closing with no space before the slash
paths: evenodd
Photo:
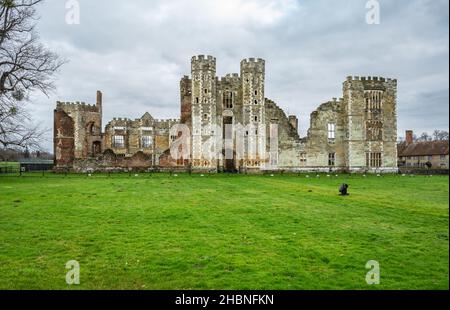
<path id="1" fill-rule="evenodd" d="M 194 56 L 192 73 L 192 166 L 216 169 L 218 150 L 215 143 L 217 125 L 216 59 Z"/>

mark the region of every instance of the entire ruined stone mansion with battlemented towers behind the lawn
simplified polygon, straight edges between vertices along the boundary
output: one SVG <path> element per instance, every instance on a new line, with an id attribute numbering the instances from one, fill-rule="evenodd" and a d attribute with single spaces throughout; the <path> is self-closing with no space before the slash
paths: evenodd
<path id="1" fill-rule="evenodd" d="M 343 97 L 312 112 L 307 136 L 300 137 L 297 117 L 287 116 L 266 98 L 264 60 L 244 59 L 240 74 L 221 78 L 212 56 L 192 57 L 191 68 L 191 76 L 180 82 L 177 120 L 158 120 L 145 113 L 135 120 L 114 118 L 103 130 L 101 92 L 93 105 L 57 102 L 56 169 L 397 171 L 397 80 L 347 77 Z M 189 129 L 184 147 L 190 156 L 173 158 L 171 148 L 182 133 L 171 128 L 179 124 Z M 212 138 L 225 138 L 227 128 L 236 124 L 244 128 L 242 139 L 237 139 L 241 131 L 231 129 L 231 140 L 208 146 L 217 156 L 205 157 L 205 145 Z M 243 152 L 237 152 L 237 141 Z"/>

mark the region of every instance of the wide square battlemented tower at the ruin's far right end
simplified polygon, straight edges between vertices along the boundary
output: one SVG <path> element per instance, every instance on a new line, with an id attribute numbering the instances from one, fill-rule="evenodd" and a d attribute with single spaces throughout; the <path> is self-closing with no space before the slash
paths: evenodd
<path id="1" fill-rule="evenodd" d="M 397 80 L 348 77 L 344 82 L 346 166 L 397 170 Z"/>

